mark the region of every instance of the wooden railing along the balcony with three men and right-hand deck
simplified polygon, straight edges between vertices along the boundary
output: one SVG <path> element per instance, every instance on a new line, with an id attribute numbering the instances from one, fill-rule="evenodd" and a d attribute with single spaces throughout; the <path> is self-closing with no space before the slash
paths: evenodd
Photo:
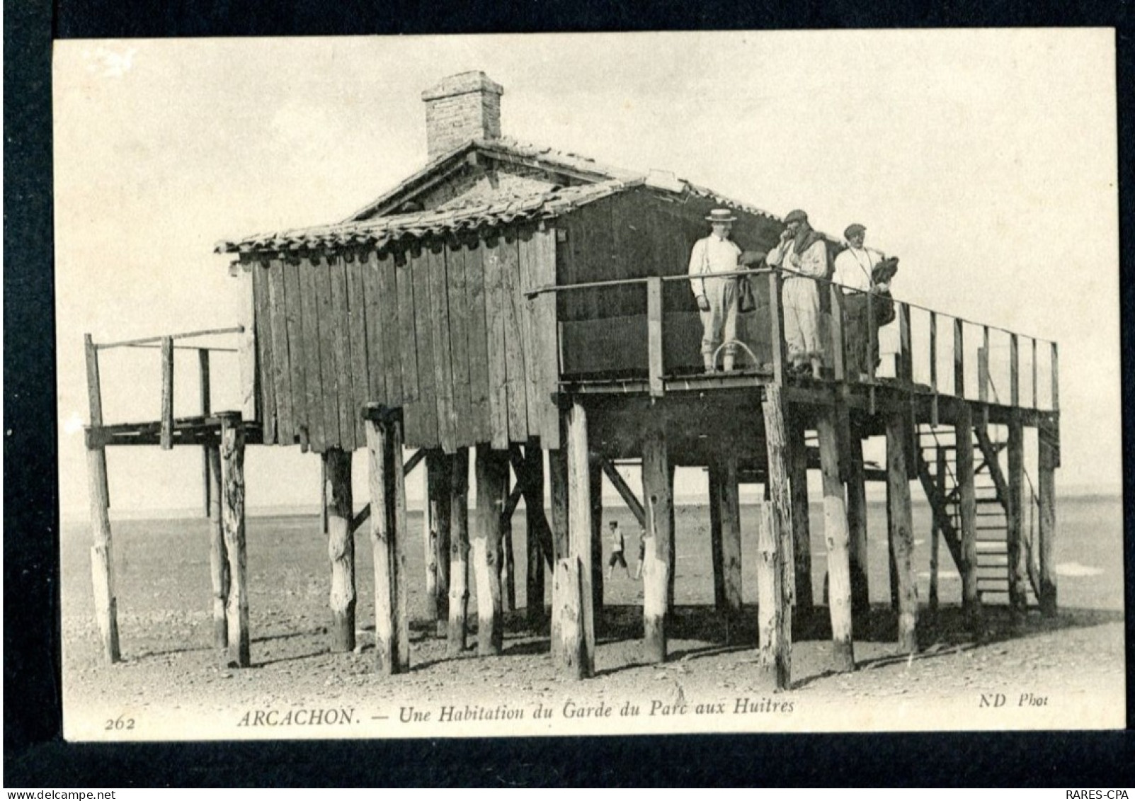
<path id="1" fill-rule="evenodd" d="M 768 342 L 772 346 L 771 361 L 765 369 L 771 370 L 772 380 L 779 385 L 784 383 L 788 368 L 783 334 L 782 288 L 785 278 L 797 275 L 783 268 L 764 267 L 754 270 L 715 273 L 714 276 L 717 278 L 743 276 L 748 277 L 750 281 L 764 283 L 767 287 L 771 301 L 768 306 L 758 310 L 758 313 L 763 311 L 767 318 L 764 324 L 767 326 Z M 646 295 L 647 357 L 645 363 L 636 364 L 630 372 L 638 378 L 645 374 L 650 394 L 657 396 L 665 391 L 665 381 L 672 377 L 666 372 L 663 348 L 665 312 L 679 311 L 665 309 L 663 285 L 666 281 L 688 283 L 690 280 L 688 275 L 675 275 L 588 281 L 538 287 L 527 293 L 527 296 L 531 300 L 545 293 L 602 290 L 628 285 L 642 286 Z M 865 294 L 868 320 L 874 319 L 875 306 L 883 301 L 877 294 L 857 293 L 829 279 L 810 278 L 810 280 L 817 283 L 821 292 L 825 292 L 830 301 L 830 312 L 826 315 L 824 364 L 825 374 L 832 380 L 868 385 L 884 380 L 897 380 L 900 383 L 926 387 L 934 395 L 949 395 L 969 401 L 1002 403 L 1042 411 L 1059 410 L 1058 352 L 1054 342 L 1029 337 L 989 323 L 975 322 L 905 301 L 892 301 L 894 305 L 893 322 L 881 328 L 876 328 L 874 324 L 867 326 L 868 354 L 880 353 L 882 360 L 880 366 L 876 369 L 874 360 L 868 357 L 867 364 L 864 365 L 866 368 L 865 374 L 852 374 L 854 371 L 848 363 L 846 298 L 851 294 Z M 560 330 L 556 331 L 556 338 L 557 368 L 561 381 L 581 378 L 579 374 L 573 374 L 571 370 L 565 370 L 564 342 Z M 1025 354 L 1026 364 L 1024 368 L 1022 354 Z M 891 359 L 888 360 L 888 357 Z M 1048 381 L 1040 381 L 1042 373 L 1048 373 Z M 1009 397 L 1004 401 L 990 398 L 989 387 L 994 377 L 1003 379 L 1002 386 L 1009 387 Z"/>

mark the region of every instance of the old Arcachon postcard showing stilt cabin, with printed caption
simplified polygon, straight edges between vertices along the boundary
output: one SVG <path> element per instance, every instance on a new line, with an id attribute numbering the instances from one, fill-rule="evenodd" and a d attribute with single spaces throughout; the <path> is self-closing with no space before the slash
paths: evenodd
<path id="1" fill-rule="evenodd" d="M 52 88 L 66 739 L 1124 726 L 1112 31 Z"/>

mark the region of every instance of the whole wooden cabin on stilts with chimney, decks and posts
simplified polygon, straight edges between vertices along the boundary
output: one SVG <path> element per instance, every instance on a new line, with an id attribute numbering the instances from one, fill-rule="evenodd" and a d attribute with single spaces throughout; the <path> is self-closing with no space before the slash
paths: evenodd
<path id="1" fill-rule="evenodd" d="M 553 652 L 575 675 L 590 673 L 595 608 L 602 604 L 597 496 L 606 474 L 654 542 L 645 563 L 645 648 L 648 658 L 665 659 L 676 566 L 675 465 L 709 471 L 715 596 L 730 614 L 741 606 L 737 486 L 757 480 L 766 487 L 768 504 L 758 521 L 760 648 L 779 686 L 790 685 L 790 612 L 813 604 L 809 469 L 824 479 L 838 669 L 854 667 L 851 610 L 866 604 L 867 478 L 885 480 L 890 490 L 892 592 L 903 648 L 917 648 L 914 479 L 934 508 L 934 536 L 959 566 L 975 621 L 983 581 L 984 591 L 1004 593 L 1015 607 L 1032 591 L 1045 612 L 1054 610 L 1053 343 L 898 303 L 892 374 L 874 368 L 852 374 L 844 365 L 843 296 L 819 281 L 829 310 L 825 376 L 793 378 L 785 369 L 782 271 L 758 268 L 747 275 L 757 309 L 741 317 L 738 370 L 707 373 L 686 278 L 691 247 L 708 233 L 706 214 L 732 210 L 733 238 L 754 251 L 770 250 L 783 224 L 669 172 L 631 172 L 504 138 L 502 93 L 482 73 L 446 78 L 423 94 L 430 158 L 424 168 L 342 222 L 220 243 L 244 298 L 243 408 L 235 416 L 182 422 L 170 408 L 160 422 L 163 445 L 219 445 L 226 459 L 238 461 L 245 441 L 323 455 L 331 550 L 339 554 L 331 588 L 342 632 L 336 647 L 353 647 L 352 533 L 367 515 L 353 511 L 346 455 L 362 447 L 371 455 L 367 514 L 376 547 L 378 663 L 387 672 L 407 664 L 402 482 L 419 457 L 403 465 L 403 446 L 430 454 L 429 509 L 437 518 L 427 549 L 428 612 L 440 624 L 448 616 L 456 650 L 464 643 L 464 601 L 446 601 L 468 598 L 463 582 L 471 562 L 479 648 L 499 651 L 502 517 L 523 496 L 536 534 L 529 538 L 529 597 L 545 597 L 544 567 L 553 568 Z M 1004 337 L 1008 354 L 997 382 L 991 337 Z M 95 388 L 96 373 L 95 363 Z M 1048 373 L 1046 380 L 1039 373 Z M 111 431 L 96 424 L 94 412 L 92 401 L 92 454 L 126 444 L 128 435 L 132 442 L 150 441 L 140 431 L 157 435 Z M 1028 496 L 1025 427 L 1040 435 L 1037 489 Z M 816 441 L 809 444 L 813 431 Z M 886 436 L 888 464 L 872 471 L 861 441 L 875 435 Z M 470 448 L 478 492 L 471 524 L 463 478 Z M 641 461 L 641 499 L 612 466 L 616 458 Z M 512 490 L 510 466 L 519 484 Z M 239 472 L 236 464 L 232 469 Z M 104 464 L 102 470 L 104 481 Z M 992 496 L 978 496 L 980 479 Z M 92 482 L 98 480 L 95 465 Z M 984 547 L 977 525 L 983 503 L 1001 509 L 998 533 Z M 1033 511 L 1035 545 L 1024 528 Z M 109 523 L 103 539 L 109 548 Z M 226 530 L 230 547 L 238 540 L 238 532 Z M 456 591 L 447 596 L 451 579 Z M 931 591 L 933 604 L 934 585 Z M 236 661 L 247 664 L 246 626 L 233 622 L 232 606 L 227 619 L 229 648 L 236 636 L 244 648 Z"/>

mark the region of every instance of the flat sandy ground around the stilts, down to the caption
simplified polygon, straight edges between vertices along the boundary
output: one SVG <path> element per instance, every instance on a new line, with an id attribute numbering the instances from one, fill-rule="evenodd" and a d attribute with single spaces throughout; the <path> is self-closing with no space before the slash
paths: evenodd
<path id="1" fill-rule="evenodd" d="M 124 661 L 101 659 L 91 612 L 87 531 L 62 537 L 65 735 L 69 740 L 302 739 L 569 734 L 597 732 L 872 731 L 1121 727 L 1125 722 L 1121 504 L 1066 499 L 1058 509 L 1061 610 L 1018 621 L 990 605 L 986 630 L 961 624 L 959 582 L 943 568 L 942 608 L 925 608 L 920 652 L 897 654 L 885 574 L 882 509 L 871 509 L 872 601 L 857 633 L 857 669 L 830 669 L 827 610 L 794 632 L 792 690 L 762 684 L 756 663 L 755 530 L 742 512 L 745 613 L 726 624 L 712 608 L 708 514 L 678 512 L 678 609 L 670 659 L 641 655 L 641 584 L 606 582 L 596 677 L 561 677 L 545 629 L 526 621 L 523 567 L 504 654 L 447 658 L 423 619 L 421 582 L 410 588 L 409 674 L 373 672 L 370 546 L 358 537 L 359 648 L 331 654 L 328 568 L 313 517 L 252 517 L 247 551 L 252 661 L 230 669 L 211 646 L 204 520 L 115 525 Z M 608 511 L 631 532 L 631 518 Z M 928 531 L 916 507 L 916 530 Z M 411 515 L 411 575 L 422 574 L 420 516 Z M 813 512 L 816 600 L 824 575 L 822 514 Z M 514 525 L 523 562 L 523 514 Z M 632 539 L 632 538 L 629 538 Z M 928 538 L 927 538 L 928 539 Z M 928 564 L 928 543 L 916 557 Z M 944 553 L 943 558 L 949 557 Z M 633 559 L 631 565 L 633 568 Z M 476 617 L 476 600 L 470 604 Z M 476 644 L 476 635 L 470 636 Z"/>

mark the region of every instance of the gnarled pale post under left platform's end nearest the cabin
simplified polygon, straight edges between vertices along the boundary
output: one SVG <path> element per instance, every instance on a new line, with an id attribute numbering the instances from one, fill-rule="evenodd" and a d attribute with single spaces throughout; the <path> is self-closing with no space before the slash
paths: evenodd
<path id="1" fill-rule="evenodd" d="M 244 549 L 244 428 L 241 415 L 221 418 L 221 517 L 228 550 L 228 666 L 249 667 L 249 579 Z"/>

